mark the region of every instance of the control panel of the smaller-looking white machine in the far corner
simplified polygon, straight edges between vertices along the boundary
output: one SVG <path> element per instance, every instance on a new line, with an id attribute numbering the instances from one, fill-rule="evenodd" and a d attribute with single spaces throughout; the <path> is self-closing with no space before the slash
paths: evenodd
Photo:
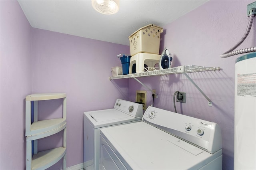
<path id="1" fill-rule="evenodd" d="M 142 104 L 126 101 L 122 99 L 116 99 L 114 109 L 126 113 L 132 117 L 142 117 L 143 109 Z"/>

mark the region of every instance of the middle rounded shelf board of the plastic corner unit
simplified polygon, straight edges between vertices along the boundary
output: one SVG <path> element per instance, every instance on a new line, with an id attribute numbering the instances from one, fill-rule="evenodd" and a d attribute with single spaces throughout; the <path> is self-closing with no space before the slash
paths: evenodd
<path id="1" fill-rule="evenodd" d="M 48 132 L 50 130 L 62 127 L 65 123 L 66 119 L 63 118 L 33 122 L 30 128 L 31 130 L 30 132 L 27 132 L 26 136 Z"/>

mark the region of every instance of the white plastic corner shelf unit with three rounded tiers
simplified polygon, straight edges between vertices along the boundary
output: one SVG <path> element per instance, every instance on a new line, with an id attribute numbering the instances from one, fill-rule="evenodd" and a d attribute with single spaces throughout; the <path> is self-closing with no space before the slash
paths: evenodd
<path id="1" fill-rule="evenodd" d="M 62 98 L 62 118 L 38 121 L 38 101 Z M 33 111 L 32 102 L 34 102 Z M 66 106 L 66 93 L 38 93 L 26 96 L 26 170 L 44 170 L 56 164 L 62 158 L 63 170 L 66 170 Z M 32 112 L 34 113 L 33 123 L 31 123 Z M 38 139 L 56 134 L 61 130 L 63 130 L 62 147 L 38 152 Z M 33 148 L 32 142 L 34 142 Z"/>

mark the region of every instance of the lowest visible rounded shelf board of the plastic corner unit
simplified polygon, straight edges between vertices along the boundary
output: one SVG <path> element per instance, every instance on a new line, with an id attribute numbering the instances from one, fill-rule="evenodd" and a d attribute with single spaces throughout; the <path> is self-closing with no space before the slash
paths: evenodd
<path id="1" fill-rule="evenodd" d="M 46 169 L 56 164 L 66 154 L 66 147 L 44 150 L 34 154 L 31 162 L 32 170 Z"/>

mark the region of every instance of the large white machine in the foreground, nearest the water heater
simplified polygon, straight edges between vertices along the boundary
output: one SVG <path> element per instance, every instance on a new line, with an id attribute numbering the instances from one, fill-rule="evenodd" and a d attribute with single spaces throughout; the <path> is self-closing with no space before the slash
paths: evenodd
<path id="1" fill-rule="evenodd" d="M 222 169 L 216 123 L 148 107 L 141 122 L 100 131 L 101 170 Z"/>

